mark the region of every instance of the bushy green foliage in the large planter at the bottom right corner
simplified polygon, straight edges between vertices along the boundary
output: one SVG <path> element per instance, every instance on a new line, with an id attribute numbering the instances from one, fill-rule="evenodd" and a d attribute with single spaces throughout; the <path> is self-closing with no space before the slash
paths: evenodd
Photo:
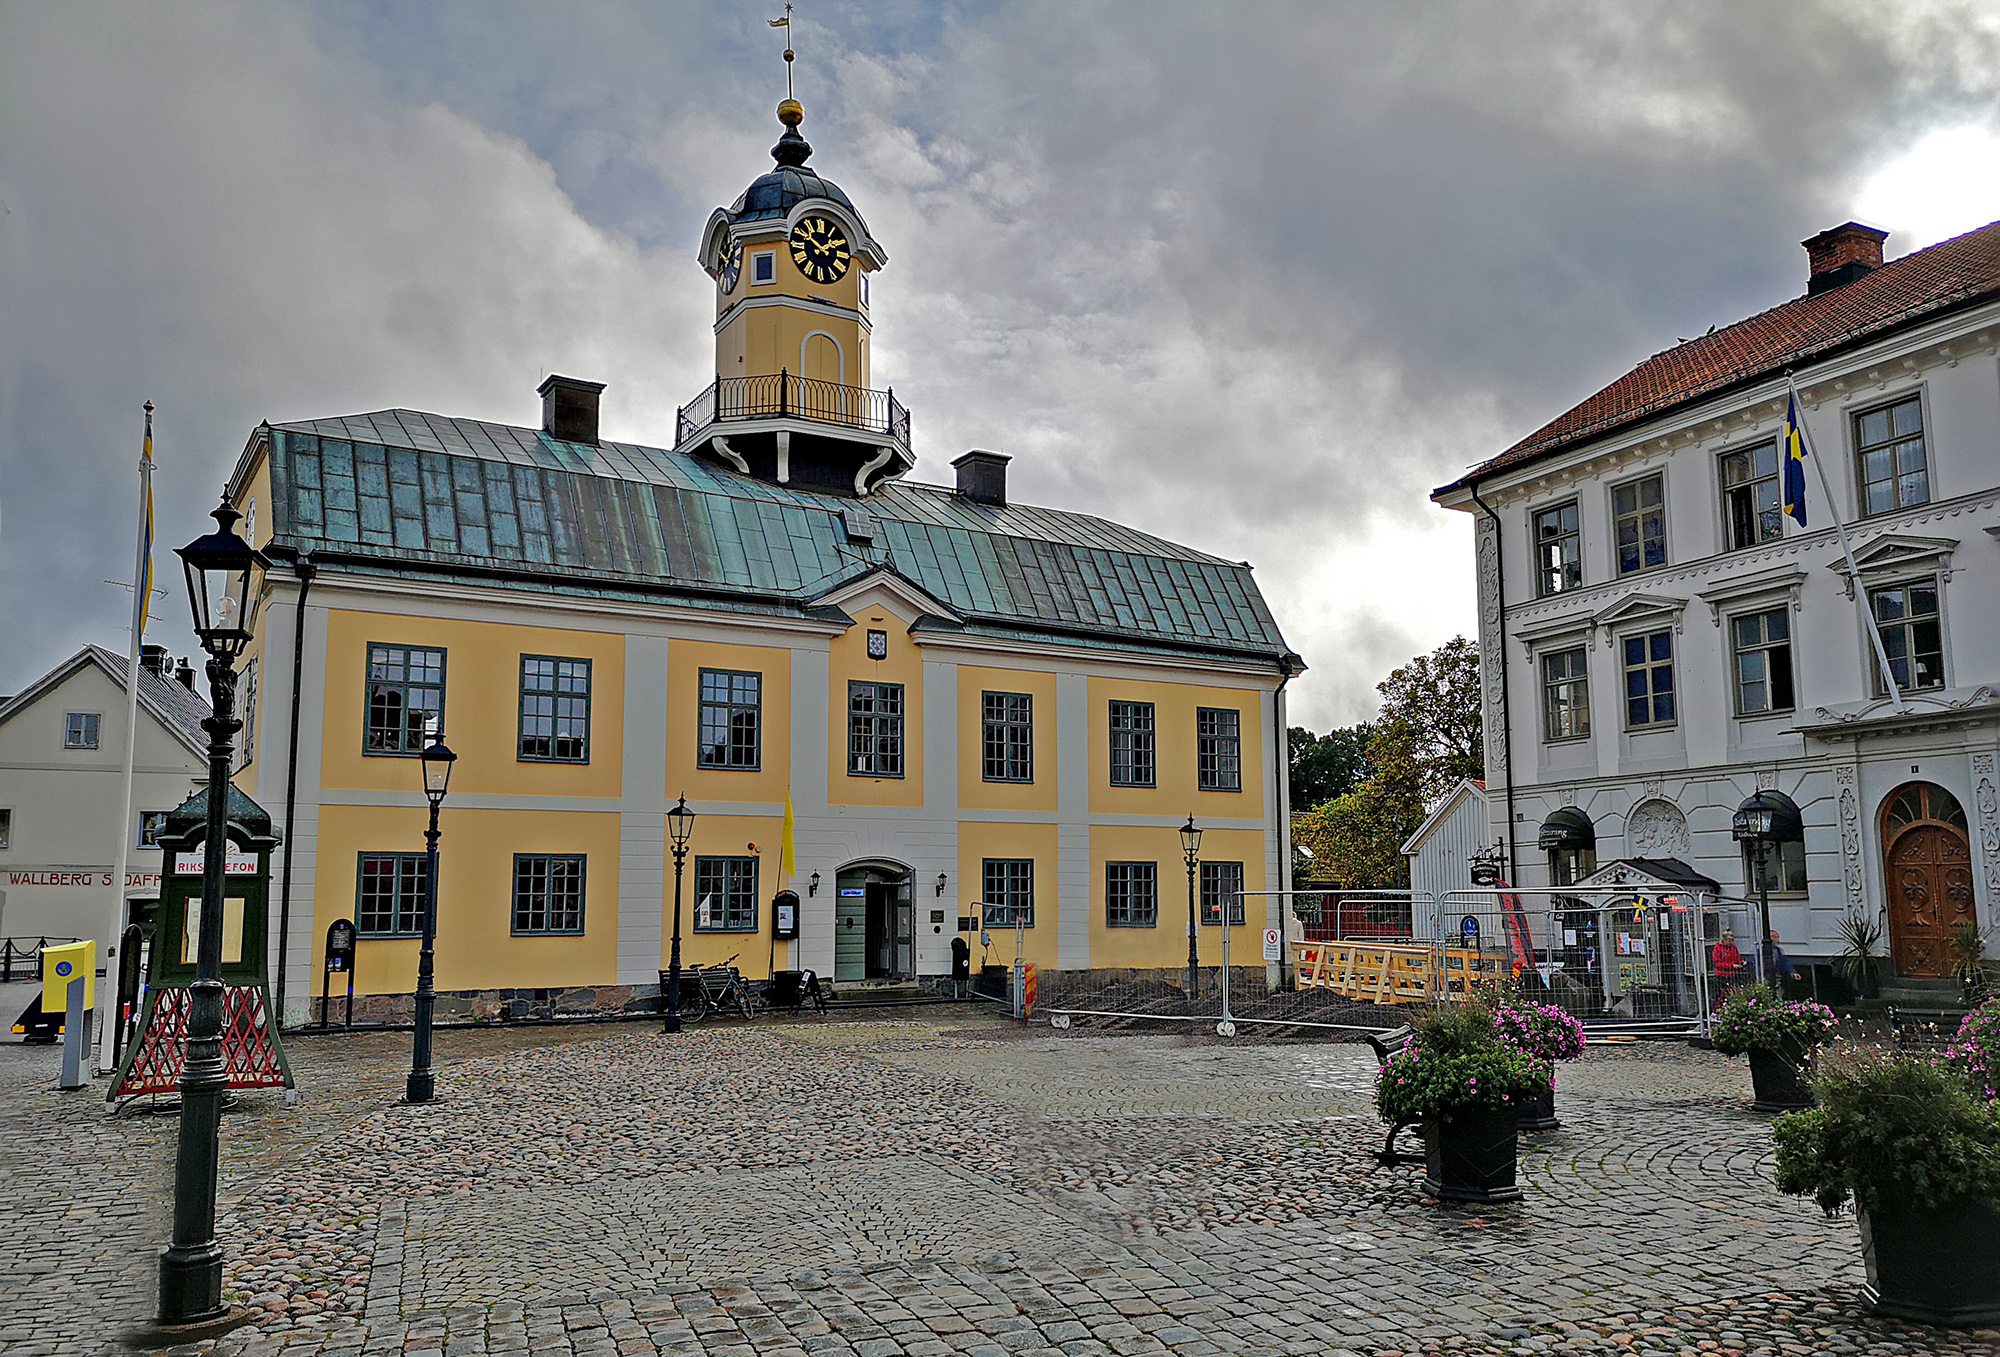
<path id="1" fill-rule="evenodd" d="M 1948 1067 L 1840 1043 L 1820 1053 L 1820 1107 L 1772 1125 L 1778 1191 L 1832 1215 L 1848 1197 L 1876 1215 L 1958 1201 L 2000 1207 L 2000 1105 Z"/>

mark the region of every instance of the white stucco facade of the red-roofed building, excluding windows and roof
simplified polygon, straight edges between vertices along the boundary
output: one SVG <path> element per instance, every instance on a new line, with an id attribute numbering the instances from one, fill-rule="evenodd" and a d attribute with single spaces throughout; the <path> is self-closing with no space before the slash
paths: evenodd
<path id="1" fill-rule="evenodd" d="M 1908 897 L 1920 887 L 1908 877 L 1892 889 L 1886 831 L 1906 819 L 1890 803 L 1900 789 L 1930 785 L 1962 809 L 1966 859 L 1924 881 L 1940 899 L 1970 891 L 1976 923 L 1992 935 L 2000 907 L 2000 300 L 1988 294 L 1940 310 L 1794 370 L 1812 448 L 1848 524 L 1860 596 L 1874 614 L 1856 606 L 1816 468 L 1806 470 L 1810 526 L 1772 524 L 1766 512 L 1750 536 L 1772 526 L 1776 534 L 1740 542 L 1726 476 L 1746 462 L 1728 458 L 1782 448 L 1782 370 L 1706 398 L 1656 402 L 1664 408 L 1650 418 L 1640 412 L 1602 436 L 1514 464 L 1496 458 L 1438 492 L 1442 504 L 1476 518 L 1488 839 L 1508 843 L 1522 885 L 1562 885 L 1552 881 L 1538 829 L 1574 807 L 1596 833 L 1596 861 L 1682 859 L 1724 891 L 1750 895 L 1730 821 L 1752 795 L 1776 791 L 1800 811 L 1806 871 L 1802 891 L 1772 895 L 1772 925 L 1794 957 L 1826 959 L 1840 951 L 1838 929 L 1850 913 L 1882 921 L 1884 943 L 1892 941 L 1898 891 Z M 1910 424 L 1920 416 L 1928 484 L 1904 486 L 1916 502 L 1864 512 L 1860 444 L 1880 428 L 1864 420 L 1892 406 Z M 1652 478 L 1664 560 L 1646 558 L 1642 544 L 1630 568 L 1630 558 L 1620 562 L 1618 510 L 1646 496 L 1628 492 L 1620 504 L 1618 490 Z M 1538 522 L 1568 504 L 1572 516 Z M 1534 536 L 1542 530 L 1546 544 L 1570 522 L 1578 578 L 1552 588 L 1560 570 L 1548 566 L 1560 548 L 1538 552 Z M 1630 544 L 1634 514 L 1624 526 Z M 1658 516 L 1640 524 L 1648 528 L 1660 528 Z M 1898 588 L 1912 592 L 1882 592 Z M 1918 590 L 1930 588 L 1938 654 L 1914 664 L 1924 687 L 1912 674 L 1898 711 L 1884 695 L 1864 618 L 1894 610 L 1896 598 L 1908 608 L 1928 604 L 1930 594 Z M 1772 652 L 1746 668 L 1744 654 L 1756 646 L 1744 628 L 1756 640 L 1760 626 L 1782 628 L 1790 685 L 1754 681 L 1758 664 L 1778 664 Z M 1928 634 L 1912 644 L 1928 644 Z M 1634 644 L 1646 652 L 1636 668 L 1628 664 Z M 1670 670 L 1664 721 L 1654 670 Z M 1792 689 L 1788 703 L 1778 701 L 1782 687 Z M 1948 807 L 1944 799 L 1934 805 Z"/>

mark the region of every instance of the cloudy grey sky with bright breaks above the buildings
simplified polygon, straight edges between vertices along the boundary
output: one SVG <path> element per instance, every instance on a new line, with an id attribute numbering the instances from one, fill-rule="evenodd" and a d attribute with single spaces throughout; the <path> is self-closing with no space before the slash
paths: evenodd
<path id="1" fill-rule="evenodd" d="M 778 0 L 0 0 L 0 693 L 148 632 L 260 420 L 664 444 L 712 376 L 710 210 L 770 166 Z M 1428 490 L 1680 336 L 2000 218 L 2000 0 L 802 0 L 812 158 L 890 264 L 914 478 L 1250 560 L 1292 721 L 1472 630 Z"/>

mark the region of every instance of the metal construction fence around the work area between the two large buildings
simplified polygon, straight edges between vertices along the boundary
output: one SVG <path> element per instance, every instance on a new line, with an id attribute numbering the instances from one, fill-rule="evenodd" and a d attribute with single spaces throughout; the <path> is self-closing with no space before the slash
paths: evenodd
<path id="1" fill-rule="evenodd" d="M 1694 1035 L 1766 965 L 1752 901 L 1658 885 L 1350 891 L 1338 915 L 1324 889 L 1244 895 L 1284 899 L 1294 917 L 1304 913 L 1294 897 L 1312 897 L 1312 917 L 1288 929 L 1276 967 L 1232 959 L 1230 931 L 1204 927 L 1192 985 L 1186 969 L 1056 973 L 1040 979 L 1032 1017 L 1058 1031 L 1158 1023 L 1354 1039 L 1422 1007 L 1504 991 L 1558 1005 L 1594 1035 Z"/>

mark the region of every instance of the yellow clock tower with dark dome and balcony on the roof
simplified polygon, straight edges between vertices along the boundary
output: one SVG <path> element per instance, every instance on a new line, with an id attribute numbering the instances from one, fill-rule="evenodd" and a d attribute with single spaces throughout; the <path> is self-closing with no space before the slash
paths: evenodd
<path id="1" fill-rule="evenodd" d="M 778 104 L 776 162 L 702 232 L 716 282 L 716 384 L 676 446 L 800 488 L 868 494 L 910 470 L 910 414 L 870 382 L 868 278 L 888 252 L 806 160 L 806 110 Z"/>

